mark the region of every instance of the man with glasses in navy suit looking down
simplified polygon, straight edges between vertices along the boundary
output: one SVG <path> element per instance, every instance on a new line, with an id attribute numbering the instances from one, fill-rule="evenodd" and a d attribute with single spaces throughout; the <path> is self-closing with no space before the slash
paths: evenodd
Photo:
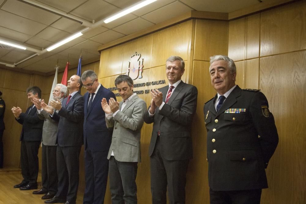
<path id="1" fill-rule="evenodd" d="M 112 139 L 112 130 L 105 123 L 105 112 L 101 107 L 102 98 L 116 98 L 114 93 L 98 82 L 98 76 L 92 70 L 81 76 L 84 94 L 84 161 L 85 181 L 83 203 L 104 202 L 108 175 L 107 153 Z M 116 100 L 116 99 L 115 99 Z"/>

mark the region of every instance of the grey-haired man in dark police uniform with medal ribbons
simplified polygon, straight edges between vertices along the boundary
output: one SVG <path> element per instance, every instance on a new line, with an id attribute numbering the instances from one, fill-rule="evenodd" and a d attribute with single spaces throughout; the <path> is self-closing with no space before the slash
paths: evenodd
<path id="1" fill-rule="evenodd" d="M 236 65 L 211 57 L 211 84 L 218 92 L 205 103 L 211 203 L 260 203 L 265 168 L 278 144 L 274 117 L 259 90 L 235 85 Z"/>

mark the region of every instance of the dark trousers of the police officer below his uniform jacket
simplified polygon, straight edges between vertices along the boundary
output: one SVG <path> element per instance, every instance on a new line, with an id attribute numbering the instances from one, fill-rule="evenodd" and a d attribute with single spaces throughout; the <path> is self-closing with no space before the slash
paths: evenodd
<path id="1" fill-rule="evenodd" d="M 260 204 L 261 189 L 243 191 L 213 191 L 209 188 L 211 204 Z"/>

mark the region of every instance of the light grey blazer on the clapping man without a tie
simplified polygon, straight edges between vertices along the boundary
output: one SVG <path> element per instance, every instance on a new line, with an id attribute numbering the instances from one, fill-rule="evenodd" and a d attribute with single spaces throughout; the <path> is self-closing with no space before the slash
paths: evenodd
<path id="1" fill-rule="evenodd" d="M 143 115 L 147 111 L 144 100 L 137 95 L 111 119 L 105 118 L 108 128 L 114 127 L 112 143 L 107 158 L 110 159 L 112 150 L 117 161 L 140 162 L 140 132 L 144 124 Z"/>

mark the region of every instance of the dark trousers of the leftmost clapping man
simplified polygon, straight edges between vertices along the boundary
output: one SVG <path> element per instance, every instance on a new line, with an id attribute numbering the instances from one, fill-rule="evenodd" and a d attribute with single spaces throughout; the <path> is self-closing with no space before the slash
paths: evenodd
<path id="1" fill-rule="evenodd" d="M 21 141 L 20 163 L 23 182 L 37 185 L 38 149 L 40 141 Z"/>

